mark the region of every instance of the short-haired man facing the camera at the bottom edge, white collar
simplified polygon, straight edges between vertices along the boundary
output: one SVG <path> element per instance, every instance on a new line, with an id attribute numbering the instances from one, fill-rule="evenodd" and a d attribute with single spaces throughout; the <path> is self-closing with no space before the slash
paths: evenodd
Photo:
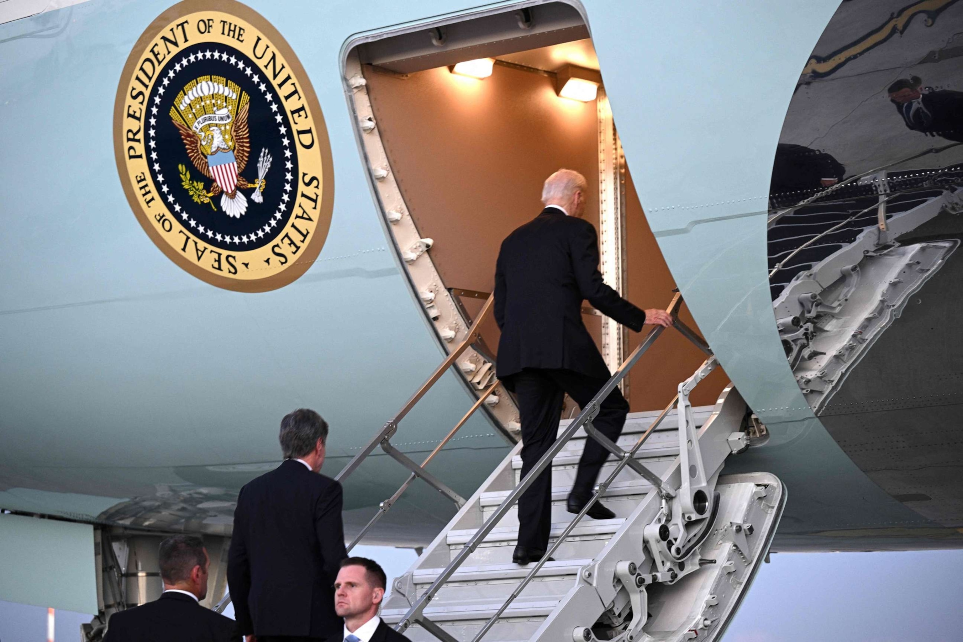
<path id="1" fill-rule="evenodd" d="M 345 626 L 339 636 L 328 642 L 408 642 L 377 615 L 387 583 L 384 570 L 375 560 L 341 560 L 341 571 L 334 581 L 334 610 L 345 619 Z"/>

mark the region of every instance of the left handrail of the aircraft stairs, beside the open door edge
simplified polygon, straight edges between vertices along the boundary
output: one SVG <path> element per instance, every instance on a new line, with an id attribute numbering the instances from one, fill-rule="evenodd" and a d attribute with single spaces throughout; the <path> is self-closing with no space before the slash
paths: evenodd
<path id="1" fill-rule="evenodd" d="M 427 470 L 425 470 L 425 467 L 428 466 L 429 462 L 434 458 L 434 456 L 437 455 L 443 447 L 445 447 L 445 444 L 455 437 L 455 433 L 458 432 L 463 425 L 465 425 L 465 422 L 467 422 L 468 419 L 474 415 L 479 408 L 481 408 L 481 404 L 484 403 L 484 400 L 495 391 L 495 388 L 499 384 L 497 379 L 492 381 L 491 385 L 479 396 L 478 400 L 472 405 L 468 412 L 458 420 L 458 422 L 455 424 L 455 427 L 449 431 L 449 433 L 441 441 L 438 442 L 438 445 L 434 447 L 434 450 L 432 450 L 425 461 L 421 463 L 421 466 L 415 464 L 413 461 L 408 459 L 403 452 L 391 445 L 390 439 L 398 431 L 398 424 L 401 423 L 404 416 L 415 407 L 415 404 L 421 401 L 422 397 L 428 393 L 429 389 L 431 389 L 431 387 L 434 386 L 439 379 L 441 379 L 442 375 L 444 375 L 445 372 L 447 372 L 448 369 L 455 364 L 455 361 L 458 359 L 458 357 L 464 354 L 465 350 L 467 350 L 469 346 L 478 341 L 481 334 L 481 322 L 485 320 L 489 312 L 492 310 L 494 301 L 494 295 L 489 295 L 487 301 L 484 303 L 484 306 L 481 307 L 479 315 L 475 317 L 474 323 L 472 323 L 471 327 L 468 329 L 468 334 L 461 341 L 461 343 L 455 347 L 455 350 L 449 353 L 445 361 L 442 361 L 441 364 L 434 369 L 434 371 L 431 373 L 431 376 L 429 376 L 428 380 L 422 384 L 421 388 L 418 388 L 418 390 L 411 395 L 411 398 L 404 403 L 402 409 L 384 424 L 377 435 L 371 441 L 368 441 L 368 443 L 361 449 L 361 452 L 352 457 L 348 465 L 345 466 L 345 468 L 342 468 L 341 471 L 335 475 L 334 479 L 339 482 L 348 477 L 348 475 L 361 466 L 362 462 L 364 462 L 364 460 L 367 459 L 367 457 L 374 452 L 375 448 L 378 446 L 380 446 L 381 449 L 394 460 L 399 462 L 404 468 L 407 468 L 411 471 L 411 474 L 395 492 L 395 494 L 391 495 L 388 499 L 385 499 L 378 505 L 378 510 L 375 514 L 375 517 L 365 524 L 364 528 L 361 529 L 361 532 L 359 532 L 357 537 L 355 537 L 351 542 L 351 545 L 347 547 L 347 550 L 350 551 L 351 548 L 354 548 L 357 543 L 360 542 L 361 539 L 368 533 L 372 526 L 374 526 L 378 520 L 384 517 L 384 515 L 391 510 L 391 507 L 396 501 L 398 501 L 398 498 L 401 497 L 404 491 L 407 490 L 408 486 L 410 486 L 416 478 L 420 477 L 424 479 L 426 482 L 428 482 L 429 486 L 454 501 L 458 508 L 464 505 L 464 498 L 442 483 L 441 480 L 434 477 L 434 475 L 431 475 Z M 227 593 L 223 598 L 221 598 L 221 602 L 217 603 L 217 605 L 214 607 L 214 610 L 218 613 L 222 613 L 224 609 L 227 608 L 227 604 L 230 602 L 231 596 L 229 593 Z"/>

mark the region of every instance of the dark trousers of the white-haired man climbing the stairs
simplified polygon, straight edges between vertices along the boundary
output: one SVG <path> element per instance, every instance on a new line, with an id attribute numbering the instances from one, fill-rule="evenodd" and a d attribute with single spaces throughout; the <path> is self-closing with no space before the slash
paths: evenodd
<path id="1" fill-rule="evenodd" d="M 605 386 L 607 379 L 597 379 L 573 370 L 525 368 L 510 376 L 510 386 L 518 399 L 522 420 L 522 478 L 535 467 L 559 436 L 561 404 L 564 395 L 585 408 L 592 397 Z M 602 402 L 593 425 L 600 433 L 615 441 L 622 434 L 629 402 L 618 388 Z M 572 494 L 587 498 L 598 478 L 609 451 L 591 438 L 579 460 Z M 518 546 L 548 549 L 552 528 L 552 468 L 546 468 L 518 501 Z"/>

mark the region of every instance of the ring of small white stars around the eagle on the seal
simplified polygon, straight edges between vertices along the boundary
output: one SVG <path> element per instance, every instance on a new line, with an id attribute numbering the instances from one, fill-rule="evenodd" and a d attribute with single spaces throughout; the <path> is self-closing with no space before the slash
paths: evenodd
<path id="1" fill-rule="evenodd" d="M 257 231 L 251 232 L 250 234 L 245 234 L 244 236 L 231 236 L 229 234 L 222 235 L 220 232 L 215 232 L 213 229 L 209 229 L 200 225 L 193 218 L 191 218 L 190 215 L 188 215 L 188 213 L 180 206 L 180 203 L 175 201 L 174 195 L 170 192 L 170 189 L 164 180 L 164 174 L 161 174 L 161 166 L 157 162 L 157 151 L 155 149 L 157 147 L 157 141 L 154 140 L 154 134 L 156 132 L 155 125 L 157 124 L 157 105 L 159 105 L 161 102 L 161 96 L 164 95 L 165 91 L 167 91 L 170 80 L 174 77 L 176 72 L 188 67 L 195 61 L 208 60 L 211 58 L 238 67 L 239 70 L 244 71 L 245 75 L 254 82 L 254 84 L 257 86 L 257 89 L 261 90 L 261 93 L 264 94 L 264 97 L 268 102 L 269 108 L 272 112 L 274 112 L 274 120 L 276 120 L 278 123 L 277 129 L 282 136 L 281 143 L 284 144 L 284 157 L 286 160 L 284 163 L 284 194 L 281 196 L 281 205 L 278 206 L 277 210 L 273 214 L 273 217 L 264 225 L 264 227 L 261 227 Z M 287 137 L 288 130 L 287 127 L 284 126 L 284 117 L 277 113 L 277 103 L 274 102 L 274 96 L 269 91 L 269 86 L 266 83 L 261 82 L 260 76 L 258 76 L 256 73 L 256 68 L 247 67 L 247 65 L 244 64 L 244 61 L 236 58 L 235 56 L 228 55 L 227 52 L 221 52 L 217 50 L 211 51 L 208 49 L 205 51 L 192 53 L 189 56 L 184 56 L 181 58 L 181 60 L 176 61 L 172 68 L 169 68 L 167 75 L 164 77 L 163 83 L 157 88 L 157 95 L 154 96 L 154 105 L 150 108 L 150 114 L 150 129 L 147 130 L 147 145 L 149 145 L 151 149 L 150 160 L 153 161 L 153 165 L 151 167 L 154 170 L 157 182 L 161 186 L 161 191 L 164 193 L 163 198 L 167 199 L 167 201 L 173 207 L 174 212 L 176 212 L 177 216 L 180 217 L 185 225 L 190 225 L 196 230 L 198 237 L 203 234 L 207 238 L 213 238 L 218 241 L 237 244 L 243 243 L 247 245 L 247 243 L 251 243 L 255 239 L 263 238 L 265 235 L 269 234 L 271 230 L 281 222 L 281 218 L 284 215 L 283 209 L 287 207 L 288 201 L 291 200 L 291 182 L 294 178 L 293 174 L 291 174 L 291 170 L 294 168 L 294 164 L 291 162 L 291 156 L 293 155 L 291 151 L 291 140 Z"/>

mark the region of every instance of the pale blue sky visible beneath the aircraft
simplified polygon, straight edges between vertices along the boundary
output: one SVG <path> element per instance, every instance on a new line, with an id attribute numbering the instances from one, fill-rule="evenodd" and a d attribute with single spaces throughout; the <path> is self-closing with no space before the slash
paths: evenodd
<path id="1" fill-rule="evenodd" d="M 389 577 L 405 548 L 357 547 Z M 756 575 L 724 642 L 959 642 L 963 550 L 777 553 Z M 45 642 L 45 608 L 0 602 L 0 642 Z M 59 642 L 79 642 L 91 616 L 57 612 Z"/>

